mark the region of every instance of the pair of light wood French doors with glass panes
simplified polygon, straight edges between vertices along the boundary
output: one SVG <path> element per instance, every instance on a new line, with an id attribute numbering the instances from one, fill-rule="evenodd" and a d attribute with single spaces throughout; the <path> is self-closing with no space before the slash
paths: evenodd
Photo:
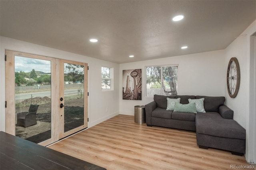
<path id="1" fill-rule="evenodd" d="M 6 132 L 49 145 L 87 127 L 86 63 L 6 50 Z"/>

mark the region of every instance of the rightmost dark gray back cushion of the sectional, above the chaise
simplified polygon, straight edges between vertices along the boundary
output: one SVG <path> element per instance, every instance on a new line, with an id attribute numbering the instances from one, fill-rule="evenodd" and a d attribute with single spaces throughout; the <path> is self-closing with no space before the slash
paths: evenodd
<path id="1" fill-rule="evenodd" d="M 218 112 L 219 107 L 224 105 L 225 97 L 196 96 L 197 99 L 204 98 L 205 111 Z"/>

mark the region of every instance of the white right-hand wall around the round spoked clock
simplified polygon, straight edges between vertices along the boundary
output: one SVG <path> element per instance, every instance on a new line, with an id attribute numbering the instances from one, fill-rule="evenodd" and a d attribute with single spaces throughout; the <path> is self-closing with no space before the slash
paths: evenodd
<path id="1" fill-rule="evenodd" d="M 240 88 L 236 98 L 228 96 L 225 87 L 226 105 L 234 110 L 234 120 L 246 129 L 246 160 L 254 162 L 255 148 L 255 54 L 250 53 L 250 36 L 256 32 L 254 21 L 239 37 L 237 37 L 225 50 L 225 69 L 230 58 L 236 57 L 240 65 Z M 252 63 L 254 62 L 254 63 Z M 251 72 L 250 72 L 251 71 Z M 254 82 L 251 82 L 254 81 Z"/>

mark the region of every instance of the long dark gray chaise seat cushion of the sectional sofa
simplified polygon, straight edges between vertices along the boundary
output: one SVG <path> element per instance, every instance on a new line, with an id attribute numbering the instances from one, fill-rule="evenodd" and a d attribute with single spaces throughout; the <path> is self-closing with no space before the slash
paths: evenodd
<path id="1" fill-rule="evenodd" d="M 217 112 L 196 114 L 196 133 L 231 139 L 246 138 L 245 129 L 233 119 L 223 119 Z"/>

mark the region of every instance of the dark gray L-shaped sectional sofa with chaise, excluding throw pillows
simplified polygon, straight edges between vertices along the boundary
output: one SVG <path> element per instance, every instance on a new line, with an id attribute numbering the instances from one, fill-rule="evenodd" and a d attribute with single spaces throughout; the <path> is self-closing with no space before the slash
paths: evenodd
<path id="1" fill-rule="evenodd" d="M 167 98 L 180 98 L 180 104 L 188 104 L 188 99 L 204 98 L 206 113 L 166 110 Z M 225 97 L 154 95 L 154 101 L 145 105 L 146 124 L 196 131 L 200 148 L 229 150 L 242 156 L 245 153 L 246 131 L 233 120 L 233 111 L 224 102 Z"/>

